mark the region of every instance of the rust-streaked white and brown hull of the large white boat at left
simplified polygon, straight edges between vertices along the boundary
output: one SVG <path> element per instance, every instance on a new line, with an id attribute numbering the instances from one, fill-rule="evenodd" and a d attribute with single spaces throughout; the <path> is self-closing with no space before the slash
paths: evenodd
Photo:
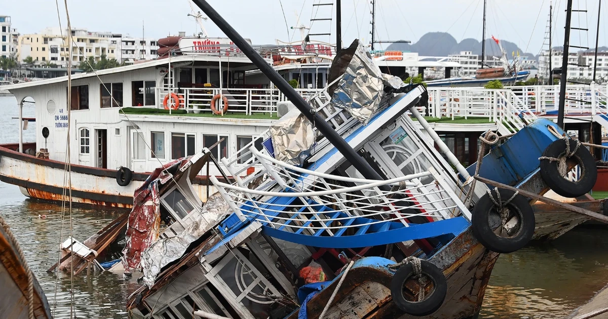
<path id="1" fill-rule="evenodd" d="M 132 208 L 133 192 L 150 173 L 133 173 L 125 187 L 117 184 L 116 171 L 71 165 L 72 202 L 95 206 Z M 45 201 L 68 201 L 66 163 L 40 159 L 0 146 L 0 180 L 19 186 L 27 197 Z M 193 187 L 202 201 L 207 198 L 206 177 L 198 176 Z M 209 194 L 215 193 L 213 185 Z"/>

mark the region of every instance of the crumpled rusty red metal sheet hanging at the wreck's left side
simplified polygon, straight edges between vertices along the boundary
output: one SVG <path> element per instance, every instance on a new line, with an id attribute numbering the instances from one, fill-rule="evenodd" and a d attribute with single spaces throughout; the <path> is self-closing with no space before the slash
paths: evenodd
<path id="1" fill-rule="evenodd" d="M 141 253 L 159 236 L 161 227 L 161 199 L 159 184 L 167 182 L 171 174 L 167 173 L 173 165 L 184 165 L 188 159 L 174 160 L 156 168 L 143 185 L 133 194 L 133 210 L 129 214 L 126 226 L 126 244 L 122 250 L 122 264 L 125 274 L 133 273 L 140 267 Z"/>

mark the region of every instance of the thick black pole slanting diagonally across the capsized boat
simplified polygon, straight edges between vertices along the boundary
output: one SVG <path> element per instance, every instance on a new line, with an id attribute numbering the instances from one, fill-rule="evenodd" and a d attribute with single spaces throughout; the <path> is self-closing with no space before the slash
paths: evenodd
<path id="1" fill-rule="evenodd" d="M 211 5 L 209 5 L 209 3 L 207 3 L 207 1 L 192 1 L 199 8 L 201 8 L 201 10 L 207 16 L 209 16 L 209 19 L 211 19 L 216 26 L 218 26 L 219 29 L 222 30 L 222 32 L 224 32 L 224 34 L 226 34 L 239 49 L 241 49 L 241 51 L 243 51 L 243 53 L 255 64 L 255 66 L 260 68 L 260 71 L 266 75 L 266 77 L 268 77 L 269 80 L 271 80 L 272 83 L 277 86 L 281 92 L 283 92 L 283 94 L 285 94 L 289 101 L 294 103 L 294 106 L 298 108 L 300 112 L 302 112 L 302 114 L 304 114 L 306 118 L 308 118 L 308 120 L 310 120 L 316 126 L 317 129 L 319 129 L 319 132 L 321 132 L 321 134 L 323 134 L 326 139 L 328 139 L 331 144 L 333 144 L 336 149 L 342 153 L 342 155 L 344 155 L 345 159 L 347 159 L 348 162 L 350 162 L 354 168 L 359 171 L 359 173 L 361 173 L 367 179 L 384 179 L 380 176 L 380 174 L 378 174 L 378 172 L 371 168 L 371 165 L 361 156 L 359 156 L 359 154 L 353 148 L 351 148 L 351 146 L 348 145 L 344 139 L 342 139 L 340 134 L 337 134 L 337 132 L 334 131 L 334 129 L 331 128 L 331 126 L 328 125 L 327 122 L 325 122 L 325 120 L 319 116 L 319 114 L 314 112 L 314 109 L 311 108 L 306 100 L 304 100 L 302 95 L 295 92 L 293 87 L 291 87 L 289 83 L 287 83 L 287 81 L 285 81 L 285 79 L 277 73 L 276 70 L 272 69 L 271 64 L 267 63 L 266 60 L 264 60 L 264 58 L 262 58 L 260 54 L 255 51 L 254 48 L 251 47 L 249 43 L 247 43 L 247 41 L 245 41 L 245 39 L 243 39 L 243 37 L 238 34 L 238 32 L 233 29 L 230 24 L 228 24 L 228 22 L 226 22 L 226 20 L 224 20 L 224 18 L 222 18 L 219 13 L 216 12 L 213 7 L 211 7 Z"/>

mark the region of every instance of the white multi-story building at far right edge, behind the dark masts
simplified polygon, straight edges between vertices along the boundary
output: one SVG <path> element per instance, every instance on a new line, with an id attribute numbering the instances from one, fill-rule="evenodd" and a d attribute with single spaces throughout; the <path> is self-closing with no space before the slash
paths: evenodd
<path id="1" fill-rule="evenodd" d="M 549 74 L 549 54 L 548 50 L 541 52 L 539 57 L 538 72 L 541 77 L 548 77 Z M 559 69 L 562 67 L 564 52 L 562 50 L 551 51 L 551 68 Z M 593 79 L 593 63 L 595 61 L 594 52 L 570 52 L 568 53 L 568 79 Z M 576 65 L 574 65 L 576 64 Z M 608 52 L 598 52 L 596 66 L 596 81 L 599 83 L 608 82 Z"/>

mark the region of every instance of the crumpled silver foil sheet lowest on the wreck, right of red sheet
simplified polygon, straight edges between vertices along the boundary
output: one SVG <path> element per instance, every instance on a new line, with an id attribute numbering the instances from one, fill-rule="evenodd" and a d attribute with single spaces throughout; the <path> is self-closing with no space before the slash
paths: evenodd
<path id="1" fill-rule="evenodd" d="M 184 255 L 193 241 L 209 232 L 230 213 L 230 208 L 219 193 L 209 196 L 200 213 L 190 213 L 191 222 L 179 235 L 162 238 L 150 245 L 141 255 L 143 283 L 152 287 L 162 267 Z"/>

